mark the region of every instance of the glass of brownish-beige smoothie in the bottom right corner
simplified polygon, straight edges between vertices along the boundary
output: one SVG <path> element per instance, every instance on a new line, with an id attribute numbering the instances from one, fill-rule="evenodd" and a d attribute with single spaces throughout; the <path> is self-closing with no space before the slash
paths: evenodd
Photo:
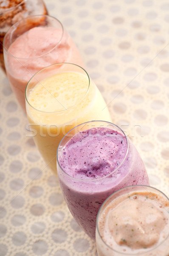
<path id="1" fill-rule="evenodd" d="M 128 186 L 102 204 L 98 256 L 169 256 L 169 198 L 150 186 Z"/>

